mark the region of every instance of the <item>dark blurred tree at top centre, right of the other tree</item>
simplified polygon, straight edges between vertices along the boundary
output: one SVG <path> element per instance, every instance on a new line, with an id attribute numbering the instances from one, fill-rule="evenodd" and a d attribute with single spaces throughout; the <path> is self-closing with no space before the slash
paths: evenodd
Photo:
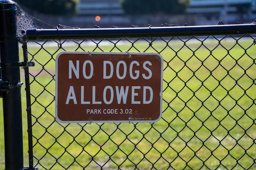
<path id="1" fill-rule="evenodd" d="M 121 0 L 126 14 L 183 14 L 189 0 Z"/>

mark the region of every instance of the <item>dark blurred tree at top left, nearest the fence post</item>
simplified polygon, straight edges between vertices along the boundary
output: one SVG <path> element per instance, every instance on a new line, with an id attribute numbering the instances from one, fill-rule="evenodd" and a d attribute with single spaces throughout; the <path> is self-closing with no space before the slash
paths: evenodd
<path id="1" fill-rule="evenodd" d="M 78 0 L 16 0 L 32 10 L 53 15 L 76 14 Z"/>

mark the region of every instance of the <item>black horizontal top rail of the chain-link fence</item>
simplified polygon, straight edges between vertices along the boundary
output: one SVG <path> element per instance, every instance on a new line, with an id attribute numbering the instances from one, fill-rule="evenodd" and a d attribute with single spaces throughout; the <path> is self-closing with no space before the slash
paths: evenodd
<path id="1" fill-rule="evenodd" d="M 143 28 L 28 29 L 26 40 L 185 37 L 256 34 L 256 24 Z"/>

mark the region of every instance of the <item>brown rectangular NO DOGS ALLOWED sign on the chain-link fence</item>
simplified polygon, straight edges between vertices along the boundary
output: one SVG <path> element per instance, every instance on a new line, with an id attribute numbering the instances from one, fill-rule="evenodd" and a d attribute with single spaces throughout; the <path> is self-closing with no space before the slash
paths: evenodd
<path id="1" fill-rule="evenodd" d="M 61 52 L 56 58 L 59 122 L 157 122 L 162 91 L 157 53 Z"/>

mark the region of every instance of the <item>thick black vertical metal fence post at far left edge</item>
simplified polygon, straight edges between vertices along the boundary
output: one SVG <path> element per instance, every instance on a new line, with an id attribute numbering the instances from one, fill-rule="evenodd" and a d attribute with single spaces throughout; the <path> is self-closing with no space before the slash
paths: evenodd
<path id="1" fill-rule="evenodd" d="M 6 170 L 23 169 L 23 136 L 20 68 L 16 37 L 17 4 L 0 0 L 0 60 L 3 92 L 3 119 Z"/>

